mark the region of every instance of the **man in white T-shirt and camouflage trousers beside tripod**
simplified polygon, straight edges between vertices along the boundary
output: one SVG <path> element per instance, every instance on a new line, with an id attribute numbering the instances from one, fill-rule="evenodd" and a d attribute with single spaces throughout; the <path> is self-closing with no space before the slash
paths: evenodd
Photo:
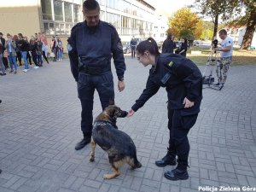
<path id="1" fill-rule="evenodd" d="M 223 85 L 227 80 L 227 73 L 232 62 L 233 55 L 233 40 L 228 37 L 227 31 L 222 29 L 218 32 L 219 38 L 223 41 L 220 43 L 221 47 L 215 48 L 215 50 L 220 51 L 220 61 L 221 67 L 220 70 L 223 69 L 223 77 L 219 77 L 220 82 L 219 85 Z M 218 68 L 216 73 L 218 74 Z"/>

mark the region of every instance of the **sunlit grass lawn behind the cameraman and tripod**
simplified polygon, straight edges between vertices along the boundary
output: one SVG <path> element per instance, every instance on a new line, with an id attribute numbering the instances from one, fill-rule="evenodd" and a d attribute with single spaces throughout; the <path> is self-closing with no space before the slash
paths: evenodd
<path id="1" fill-rule="evenodd" d="M 201 55 L 191 55 L 191 50 L 200 50 Z M 192 47 L 187 52 L 187 58 L 195 62 L 197 65 L 206 65 L 212 49 L 196 49 Z M 232 66 L 239 65 L 256 65 L 256 50 L 233 50 Z"/>

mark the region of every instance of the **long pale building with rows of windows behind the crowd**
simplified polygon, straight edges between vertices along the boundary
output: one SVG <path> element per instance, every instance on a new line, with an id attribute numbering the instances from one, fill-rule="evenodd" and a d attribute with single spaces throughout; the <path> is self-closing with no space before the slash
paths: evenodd
<path id="1" fill-rule="evenodd" d="M 152 36 L 154 7 L 143 0 L 98 0 L 101 20 L 116 27 L 122 41 Z M 58 35 L 66 44 L 72 27 L 84 20 L 84 0 L 8 0 L 0 3 L 0 32 L 21 32 L 30 38 L 45 32 L 49 41 Z M 66 46 L 64 46 L 66 48 Z"/>

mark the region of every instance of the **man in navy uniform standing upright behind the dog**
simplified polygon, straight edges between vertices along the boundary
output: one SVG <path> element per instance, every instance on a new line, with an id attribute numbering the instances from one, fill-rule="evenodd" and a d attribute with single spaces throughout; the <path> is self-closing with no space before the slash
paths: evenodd
<path id="1" fill-rule="evenodd" d="M 125 89 L 125 58 L 119 35 L 114 26 L 99 19 L 100 6 L 96 0 L 83 3 L 85 21 L 73 26 L 67 49 L 71 71 L 78 83 L 82 106 L 81 130 L 84 138 L 75 149 L 90 143 L 93 121 L 93 99 L 97 90 L 102 109 L 114 98 L 111 58 L 118 76 L 118 89 Z"/>

